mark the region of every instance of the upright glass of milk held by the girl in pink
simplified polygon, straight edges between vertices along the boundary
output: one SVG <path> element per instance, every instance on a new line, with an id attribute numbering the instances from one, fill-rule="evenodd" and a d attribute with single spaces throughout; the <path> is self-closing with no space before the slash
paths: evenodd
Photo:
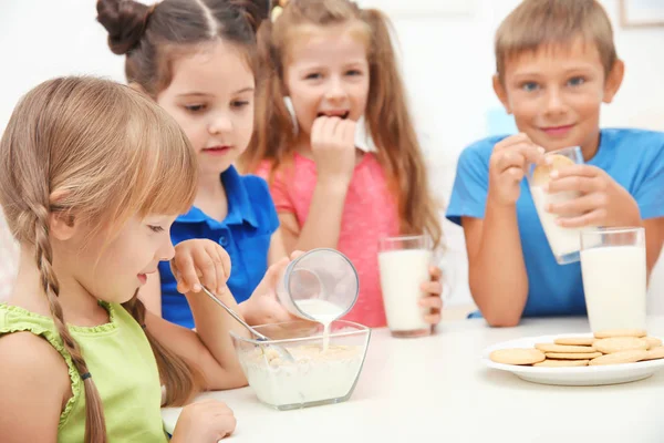
<path id="1" fill-rule="evenodd" d="M 394 337 L 422 337 L 432 332 L 424 321 L 428 308 L 419 300 L 427 296 L 421 287 L 430 279 L 434 253 L 427 236 L 383 238 L 378 245 L 378 268 L 387 327 Z"/>

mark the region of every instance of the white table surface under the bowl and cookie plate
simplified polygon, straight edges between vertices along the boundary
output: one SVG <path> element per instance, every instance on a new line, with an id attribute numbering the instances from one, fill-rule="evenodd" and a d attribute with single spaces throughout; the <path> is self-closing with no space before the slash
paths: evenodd
<path id="1" fill-rule="evenodd" d="M 480 362 L 501 341 L 589 332 L 584 318 L 528 319 L 494 329 L 481 319 L 443 322 L 435 336 L 394 339 L 372 332 L 360 381 L 347 402 L 277 411 L 250 388 L 208 392 L 238 420 L 237 442 L 664 442 L 664 371 L 605 387 L 529 383 Z M 664 337 L 664 317 L 649 319 Z M 165 408 L 173 431 L 180 409 Z"/>

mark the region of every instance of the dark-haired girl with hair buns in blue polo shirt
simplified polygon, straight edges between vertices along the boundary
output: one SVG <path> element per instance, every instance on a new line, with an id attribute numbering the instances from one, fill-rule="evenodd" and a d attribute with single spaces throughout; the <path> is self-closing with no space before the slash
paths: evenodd
<path id="1" fill-rule="evenodd" d="M 108 31 L 111 50 L 126 54 L 129 84 L 175 117 L 198 154 L 196 200 L 173 225 L 173 243 L 218 241 L 231 258 L 228 287 L 238 302 L 250 297 L 269 264 L 286 256 L 266 182 L 240 176 L 232 166 L 253 131 L 256 29 L 268 7 L 268 0 L 97 3 L 97 20 Z M 172 185 L 178 186 L 178 177 L 172 177 Z M 165 319 L 194 327 L 167 262 L 159 265 L 159 277 L 148 281 L 142 297 Z M 247 320 L 288 318 L 277 302 L 273 307 Z"/>

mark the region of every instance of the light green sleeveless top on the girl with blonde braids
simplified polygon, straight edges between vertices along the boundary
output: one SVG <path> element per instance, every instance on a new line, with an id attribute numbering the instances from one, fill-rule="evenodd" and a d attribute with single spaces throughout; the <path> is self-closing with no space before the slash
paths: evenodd
<path id="1" fill-rule="evenodd" d="M 167 442 L 162 422 L 162 387 L 153 350 L 134 318 L 120 305 L 103 303 L 111 321 L 83 328 L 70 324 L 100 391 L 108 442 Z M 64 358 L 72 398 L 60 415 L 59 443 L 80 443 L 85 435 L 85 393 L 81 375 L 64 349 L 53 320 L 0 303 L 0 337 L 29 331 L 49 341 Z"/>

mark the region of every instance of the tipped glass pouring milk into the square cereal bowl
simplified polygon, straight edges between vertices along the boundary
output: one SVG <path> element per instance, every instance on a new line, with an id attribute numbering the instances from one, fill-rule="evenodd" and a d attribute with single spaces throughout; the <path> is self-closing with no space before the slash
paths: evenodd
<path id="1" fill-rule="evenodd" d="M 277 297 L 290 313 L 325 328 L 353 308 L 359 292 L 351 260 L 328 248 L 312 249 L 292 260 L 277 287 Z"/>

